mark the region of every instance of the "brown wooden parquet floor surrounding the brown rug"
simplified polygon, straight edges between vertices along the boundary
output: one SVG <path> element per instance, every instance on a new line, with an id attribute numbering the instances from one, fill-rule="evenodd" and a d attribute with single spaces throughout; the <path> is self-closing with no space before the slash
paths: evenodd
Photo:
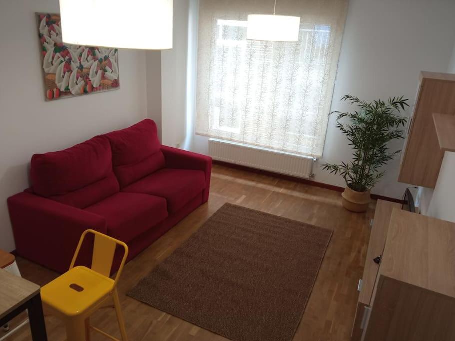
<path id="1" fill-rule="evenodd" d="M 129 340 L 227 340 L 125 295 L 225 202 L 333 230 L 293 340 L 349 340 L 358 296 L 357 282 L 362 276 L 370 234 L 369 222 L 375 203 L 366 213 L 350 213 L 341 207 L 339 192 L 220 165 L 213 167 L 209 202 L 192 212 L 125 266 L 119 282 L 119 293 Z M 40 285 L 57 275 L 19 257 L 17 262 L 23 277 Z M 120 338 L 113 310 L 98 311 L 91 322 Z M 50 341 L 65 340 L 64 327 L 58 320 L 46 317 L 46 327 Z M 95 332 L 92 332 L 91 339 L 108 340 Z M 29 328 L 22 328 L 7 340 L 31 340 Z"/>

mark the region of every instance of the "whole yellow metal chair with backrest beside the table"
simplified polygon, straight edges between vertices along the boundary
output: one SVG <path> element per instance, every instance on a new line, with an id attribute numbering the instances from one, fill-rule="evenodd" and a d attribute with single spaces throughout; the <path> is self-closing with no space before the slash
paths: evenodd
<path id="1" fill-rule="evenodd" d="M 91 268 L 74 267 L 82 242 L 88 233 L 94 234 Z M 109 275 L 117 245 L 121 245 L 125 252 L 113 280 Z M 80 237 L 69 270 L 41 288 L 43 305 L 49 313 L 63 320 L 68 341 L 90 340 L 90 328 L 112 340 L 119 341 L 102 330 L 90 326 L 90 315 L 111 297 L 114 301 L 122 340 L 128 340 L 117 293 L 117 282 L 127 256 L 128 246 L 125 243 L 97 231 L 86 230 Z"/>

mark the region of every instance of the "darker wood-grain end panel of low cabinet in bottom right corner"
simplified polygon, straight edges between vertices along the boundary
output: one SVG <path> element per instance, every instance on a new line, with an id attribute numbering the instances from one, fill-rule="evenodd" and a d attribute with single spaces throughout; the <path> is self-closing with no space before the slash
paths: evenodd
<path id="1" fill-rule="evenodd" d="M 455 299 L 380 275 L 364 341 L 384 340 L 455 340 Z"/>

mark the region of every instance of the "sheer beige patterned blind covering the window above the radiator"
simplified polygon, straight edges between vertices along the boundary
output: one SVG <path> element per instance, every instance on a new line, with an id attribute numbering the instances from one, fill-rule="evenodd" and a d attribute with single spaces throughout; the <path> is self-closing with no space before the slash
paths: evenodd
<path id="1" fill-rule="evenodd" d="M 348 0 L 277 0 L 299 41 L 246 40 L 273 0 L 200 0 L 196 133 L 322 155 Z"/>

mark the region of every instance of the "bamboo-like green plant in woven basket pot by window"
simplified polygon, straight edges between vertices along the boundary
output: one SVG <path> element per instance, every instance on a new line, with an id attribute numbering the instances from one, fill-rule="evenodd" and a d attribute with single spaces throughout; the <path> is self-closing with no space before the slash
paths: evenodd
<path id="1" fill-rule="evenodd" d="M 324 164 L 323 169 L 340 174 L 346 182 L 342 193 L 343 207 L 353 212 L 364 212 L 370 202 L 370 190 L 384 175 L 381 167 L 392 160 L 400 150 L 390 152 L 388 143 L 403 138 L 406 117 L 400 112 L 408 107 L 407 99 L 389 98 L 364 102 L 359 98 L 346 95 L 343 101 L 356 105 L 354 112 L 333 111 L 338 114 L 335 126 L 350 142 L 353 159 L 341 164 Z M 347 122 L 345 122 L 347 120 Z"/>

